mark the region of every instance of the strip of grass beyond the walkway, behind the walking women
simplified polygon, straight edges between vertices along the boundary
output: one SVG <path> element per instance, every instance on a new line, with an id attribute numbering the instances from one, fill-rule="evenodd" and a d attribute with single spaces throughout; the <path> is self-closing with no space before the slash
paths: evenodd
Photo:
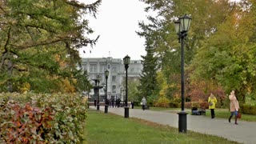
<path id="1" fill-rule="evenodd" d="M 141 109 L 140 106 L 135 106 L 135 109 Z M 177 113 L 181 110 L 181 108 L 164 108 L 164 107 L 150 107 L 150 110 L 155 111 L 166 111 L 170 113 Z M 188 114 L 191 114 L 190 109 L 185 109 Z M 228 109 L 215 109 L 215 118 L 229 118 L 230 117 L 230 111 Z M 206 109 L 206 117 L 210 117 L 210 110 Z M 250 115 L 250 114 L 242 114 L 242 118 L 239 119 L 242 121 L 248 121 L 248 122 L 256 122 L 256 115 Z"/>

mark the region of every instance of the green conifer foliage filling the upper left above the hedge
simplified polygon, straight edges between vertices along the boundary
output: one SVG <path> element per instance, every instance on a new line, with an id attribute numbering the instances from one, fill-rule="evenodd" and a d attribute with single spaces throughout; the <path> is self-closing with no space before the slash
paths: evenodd
<path id="1" fill-rule="evenodd" d="M 84 16 L 95 15 L 100 2 L 1 1 L 0 90 L 22 91 L 28 83 L 38 92 L 64 91 L 65 78 L 76 88 L 78 50 L 97 42 L 86 38 L 93 30 Z"/>

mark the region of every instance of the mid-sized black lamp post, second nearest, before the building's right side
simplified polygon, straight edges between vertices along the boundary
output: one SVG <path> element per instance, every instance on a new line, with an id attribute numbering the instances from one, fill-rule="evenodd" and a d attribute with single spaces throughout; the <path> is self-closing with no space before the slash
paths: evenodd
<path id="1" fill-rule="evenodd" d="M 127 89 L 127 86 L 128 86 L 128 73 L 127 73 L 127 70 L 128 70 L 128 67 L 129 67 L 129 64 L 130 64 L 130 57 L 128 55 L 126 55 L 125 58 L 122 59 L 123 60 L 123 63 L 125 65 L 125 68 L 126 68 L 126 106 L 125 106 L 125 118 L 129 118 L 129 107 L 127 105 L 127 102 L 128 102 L 128 89 Z"/>

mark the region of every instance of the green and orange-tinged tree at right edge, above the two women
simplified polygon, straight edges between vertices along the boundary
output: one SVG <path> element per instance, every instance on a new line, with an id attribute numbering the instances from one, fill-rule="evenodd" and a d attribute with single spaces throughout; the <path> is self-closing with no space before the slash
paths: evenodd
<path id="1" fill-rule="evenodd" d="M 235 90 L 240 102 L 246 102 L 246 94 L 254 93 L 255 86 L 255 6 L 247 2 L 236 7 L 218 26 L 191 65 L 191 78 L 215 79 L 226 93 Z"/>

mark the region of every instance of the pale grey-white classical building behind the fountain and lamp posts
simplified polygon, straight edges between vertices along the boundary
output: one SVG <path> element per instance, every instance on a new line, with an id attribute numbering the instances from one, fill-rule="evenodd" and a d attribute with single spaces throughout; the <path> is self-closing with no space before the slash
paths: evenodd
<path id="1" fill-rule="evenodd" d="M 101 77 L 100 86 L 106 84 L 105 71 L 109 70 L 107 79 L 107 98 L 121 98 L 123 101 L 125 95 L 126 69 L 121 58 L 82 58 L 82 67 L 87 70 L 90 82 L 95 85 L 94 79 L 97 75 Z M 142 74 L 141 60 L 130 60 L 127 70 L 128 80 L 139 78 Z M 90 91 L 90 96 L 93 97 L 94 90 Z M 104 90 L 100 90 L 100 101 L 105 100 Z"/>

